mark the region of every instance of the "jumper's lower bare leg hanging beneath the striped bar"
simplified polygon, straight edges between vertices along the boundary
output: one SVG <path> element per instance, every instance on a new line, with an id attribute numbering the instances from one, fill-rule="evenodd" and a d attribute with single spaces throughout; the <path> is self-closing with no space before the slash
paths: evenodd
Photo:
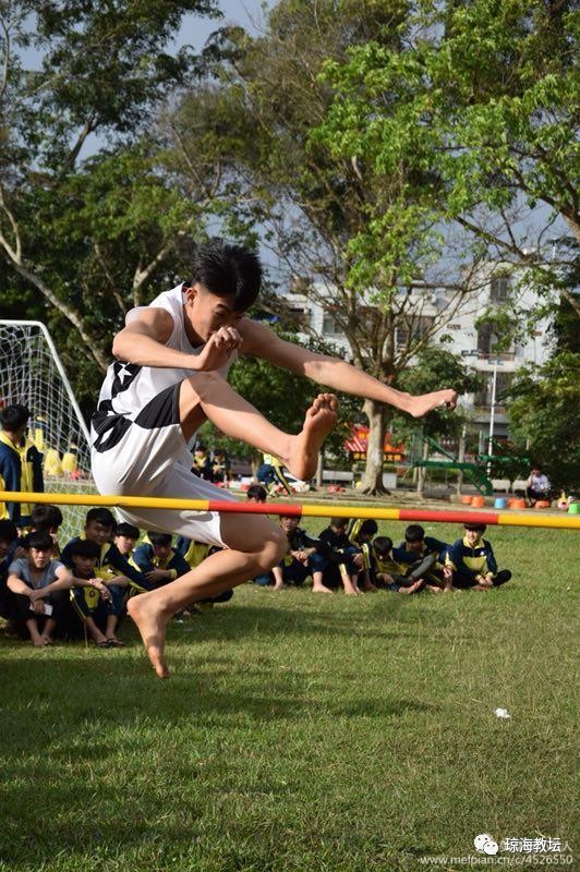
<path id="1" fill-rule="evenodd" d="M 198 567 L 156 591 L 133 596 L 128 611 L 138 627 L 143 643 L 159 678 L 168 678 L 165 637 L 169 619 L 189 603 L 216 596 L 228 588 L 269 571 L 288 549 L 282 530 L 265 516 L 223 514 L 225 550 L 207 557 Z"/>

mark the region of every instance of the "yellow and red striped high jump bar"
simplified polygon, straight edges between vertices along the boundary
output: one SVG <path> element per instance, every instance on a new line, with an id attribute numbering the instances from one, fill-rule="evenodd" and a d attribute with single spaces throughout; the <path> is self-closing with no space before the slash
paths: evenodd
<path id="1" fill-rule="evenodd" d="M 439 509 L 390 509 L 363 506 L 299 506 L 293 502 L 241 502 L 237 500 L 173 499 L 169 497 L 102 496 L 101 494 L 33 494 L 0 491 L 0 502 L 45 502 L 61 506 L 107 508 L 178 509 L 238 514 L 288 514 L 297 518 L 374 518 L 376 521 L 431 521 L 481 523 L 499 526 L 548 526 L 580 530 L 580 514 L 524 514 L 516 511 L 455 511 Z"/>

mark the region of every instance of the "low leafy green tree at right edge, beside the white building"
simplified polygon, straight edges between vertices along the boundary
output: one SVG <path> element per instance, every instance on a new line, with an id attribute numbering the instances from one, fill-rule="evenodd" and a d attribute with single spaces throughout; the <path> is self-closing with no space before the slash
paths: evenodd
<path id="1" fill-rule="evenodd" d="M 580 487 L 579 376 L 580 355 L 563 351 L 543 366 L 520 371 L 509 389 L 512 439 L 528 446 L 532 462 L 566 491 Z"/>

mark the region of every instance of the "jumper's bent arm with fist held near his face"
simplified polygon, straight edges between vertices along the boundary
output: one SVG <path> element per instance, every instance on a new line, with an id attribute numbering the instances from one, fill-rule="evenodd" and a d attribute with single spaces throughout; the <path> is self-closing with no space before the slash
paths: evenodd
<path id="1" fill-rule="evenodd" d="M 194 370 L 219 370 L 232 351 L 241 344 L 241 337 L 231 327 L 222 327 L 209 337 L 200 354 L 186 354 L 168 348 L 165 343 L 173 330 L 173 318 L 165 308 L 144 307 L 113 339 L 116 358 L 138 366 Z"/>

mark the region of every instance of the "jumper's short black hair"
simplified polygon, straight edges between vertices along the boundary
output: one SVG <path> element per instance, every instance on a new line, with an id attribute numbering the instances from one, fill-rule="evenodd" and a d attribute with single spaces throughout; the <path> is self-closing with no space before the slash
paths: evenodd
<path id="1" fill-rule="evenodd" d="M 245 312 L 259 293 L 262 265 L 250 249 L 214 240 L 195 249 L 192 283 L 195 282 L 216 296 L 233 296 L 234 311 Z"/>

